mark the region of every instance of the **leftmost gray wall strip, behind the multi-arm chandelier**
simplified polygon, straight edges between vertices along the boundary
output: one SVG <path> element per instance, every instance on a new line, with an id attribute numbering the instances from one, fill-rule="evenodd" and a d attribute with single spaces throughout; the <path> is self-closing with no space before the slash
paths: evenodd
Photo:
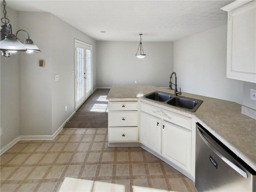
<path id="1" fill-rule="evenodd" d="M 18 12 L 6 8 L 13 32 L 18 30 Z M 1 6 L 1 18 L 3 18 Z M 1 23 L 2 25 L 2 23 Z M 12 54 L 9 60 L 0 55 L 1 67 L 1 122 L 3 135 L 1 149 L 20 135 L 20 98 L 19 98 L 19 64 L 18 53 Z"/>

